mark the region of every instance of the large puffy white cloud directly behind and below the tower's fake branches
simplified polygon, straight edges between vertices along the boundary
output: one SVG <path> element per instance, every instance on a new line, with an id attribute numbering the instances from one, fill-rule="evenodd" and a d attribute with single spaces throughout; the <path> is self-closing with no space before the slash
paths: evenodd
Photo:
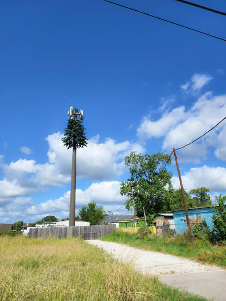
<path id="1" fill-rule="evenodd" d="M 67 150 L 61 139 L 60 132 L 49 135 L 49 162 L 54 163 L 63 175 L 70 176 L 71 150 Z M 112 180 L 125 171 L 124 159 L 130 151 L 143 153 L 144 149 L 138 143 L 124 141 L 117 143 L 111 138 L 99 143 L 99 135 L 88 141 L 88 146 L 77 150 L 77 177 L 89 180 Z"/>

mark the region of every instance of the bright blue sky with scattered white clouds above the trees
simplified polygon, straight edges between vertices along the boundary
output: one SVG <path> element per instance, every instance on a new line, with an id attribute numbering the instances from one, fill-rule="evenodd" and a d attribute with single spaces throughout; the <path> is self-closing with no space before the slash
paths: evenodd
<path id="1" fill-rule="evenodd" d="M 226 11 L 224 0 L 199 4 Z M 174 0 L 121 0 L 226 38 L 226 17 Z M 68 216 L 70 106 L 84 111 L 76 208 L 125 202 L 131 150 L 189 143 L 226 116 L 226 43 L 102 0 L 1 2 L 0 222 Z M 226 191 L 226 122 L 178 151 L 187 190 Z M 178 187 L 176 168 L 173 184 Z M 119 213 L 126 213 L 123 209 Z"/>

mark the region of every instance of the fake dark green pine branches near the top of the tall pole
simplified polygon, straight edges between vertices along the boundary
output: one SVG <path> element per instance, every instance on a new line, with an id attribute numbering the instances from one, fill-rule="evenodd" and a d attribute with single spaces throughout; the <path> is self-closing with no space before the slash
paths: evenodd
<path id="1" fill-rule="evenodd" d="M 76 113 L 79 113 L 77 108 L 74 108 Z M 85 128 L 82 124 L 83 119 L 68 119 L 65 128 L 65 136 L 62 138 L 67 149 L 83 148 L 87 146 L 87 138 L 85 135 Z"/>

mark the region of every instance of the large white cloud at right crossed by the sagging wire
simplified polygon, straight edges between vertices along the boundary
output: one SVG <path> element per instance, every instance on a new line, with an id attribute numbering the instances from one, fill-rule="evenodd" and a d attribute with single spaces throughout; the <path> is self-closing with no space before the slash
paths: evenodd
<path id="1" fill-rule="evenodd" d="M 162 150 L 171 152 L 192 142 L 226 116 L 226 95 L 213 96 L 211 92 L 203 94 L 186 111 L 184 106 L 177 107 L 161 116 L 159 120 L 144 117 L 137 129 L 142 139 L 163 137 Z M 178 151 L 182 162 L 199 162 L 205 159 L 208 147 L 215 148 L 215 155 L 225 159 L 226 125 L 222 122 L 212 132 L 198 142 Z"/>

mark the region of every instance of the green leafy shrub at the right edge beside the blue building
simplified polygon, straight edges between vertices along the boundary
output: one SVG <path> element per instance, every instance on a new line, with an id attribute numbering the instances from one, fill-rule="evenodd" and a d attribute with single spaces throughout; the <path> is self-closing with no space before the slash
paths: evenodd
<path id="1" fill-rule="evenodd" d="M 218 206 L 213 207 L 214 213 L 212 216 L 213 219 L 213 229 L 212 229 L 212 238 L 214 241 L 225 241 L 226 240 L 226 196 L 222 197 L 220 194 L 219 197 L 215 197 L 218 202 Z"/>

